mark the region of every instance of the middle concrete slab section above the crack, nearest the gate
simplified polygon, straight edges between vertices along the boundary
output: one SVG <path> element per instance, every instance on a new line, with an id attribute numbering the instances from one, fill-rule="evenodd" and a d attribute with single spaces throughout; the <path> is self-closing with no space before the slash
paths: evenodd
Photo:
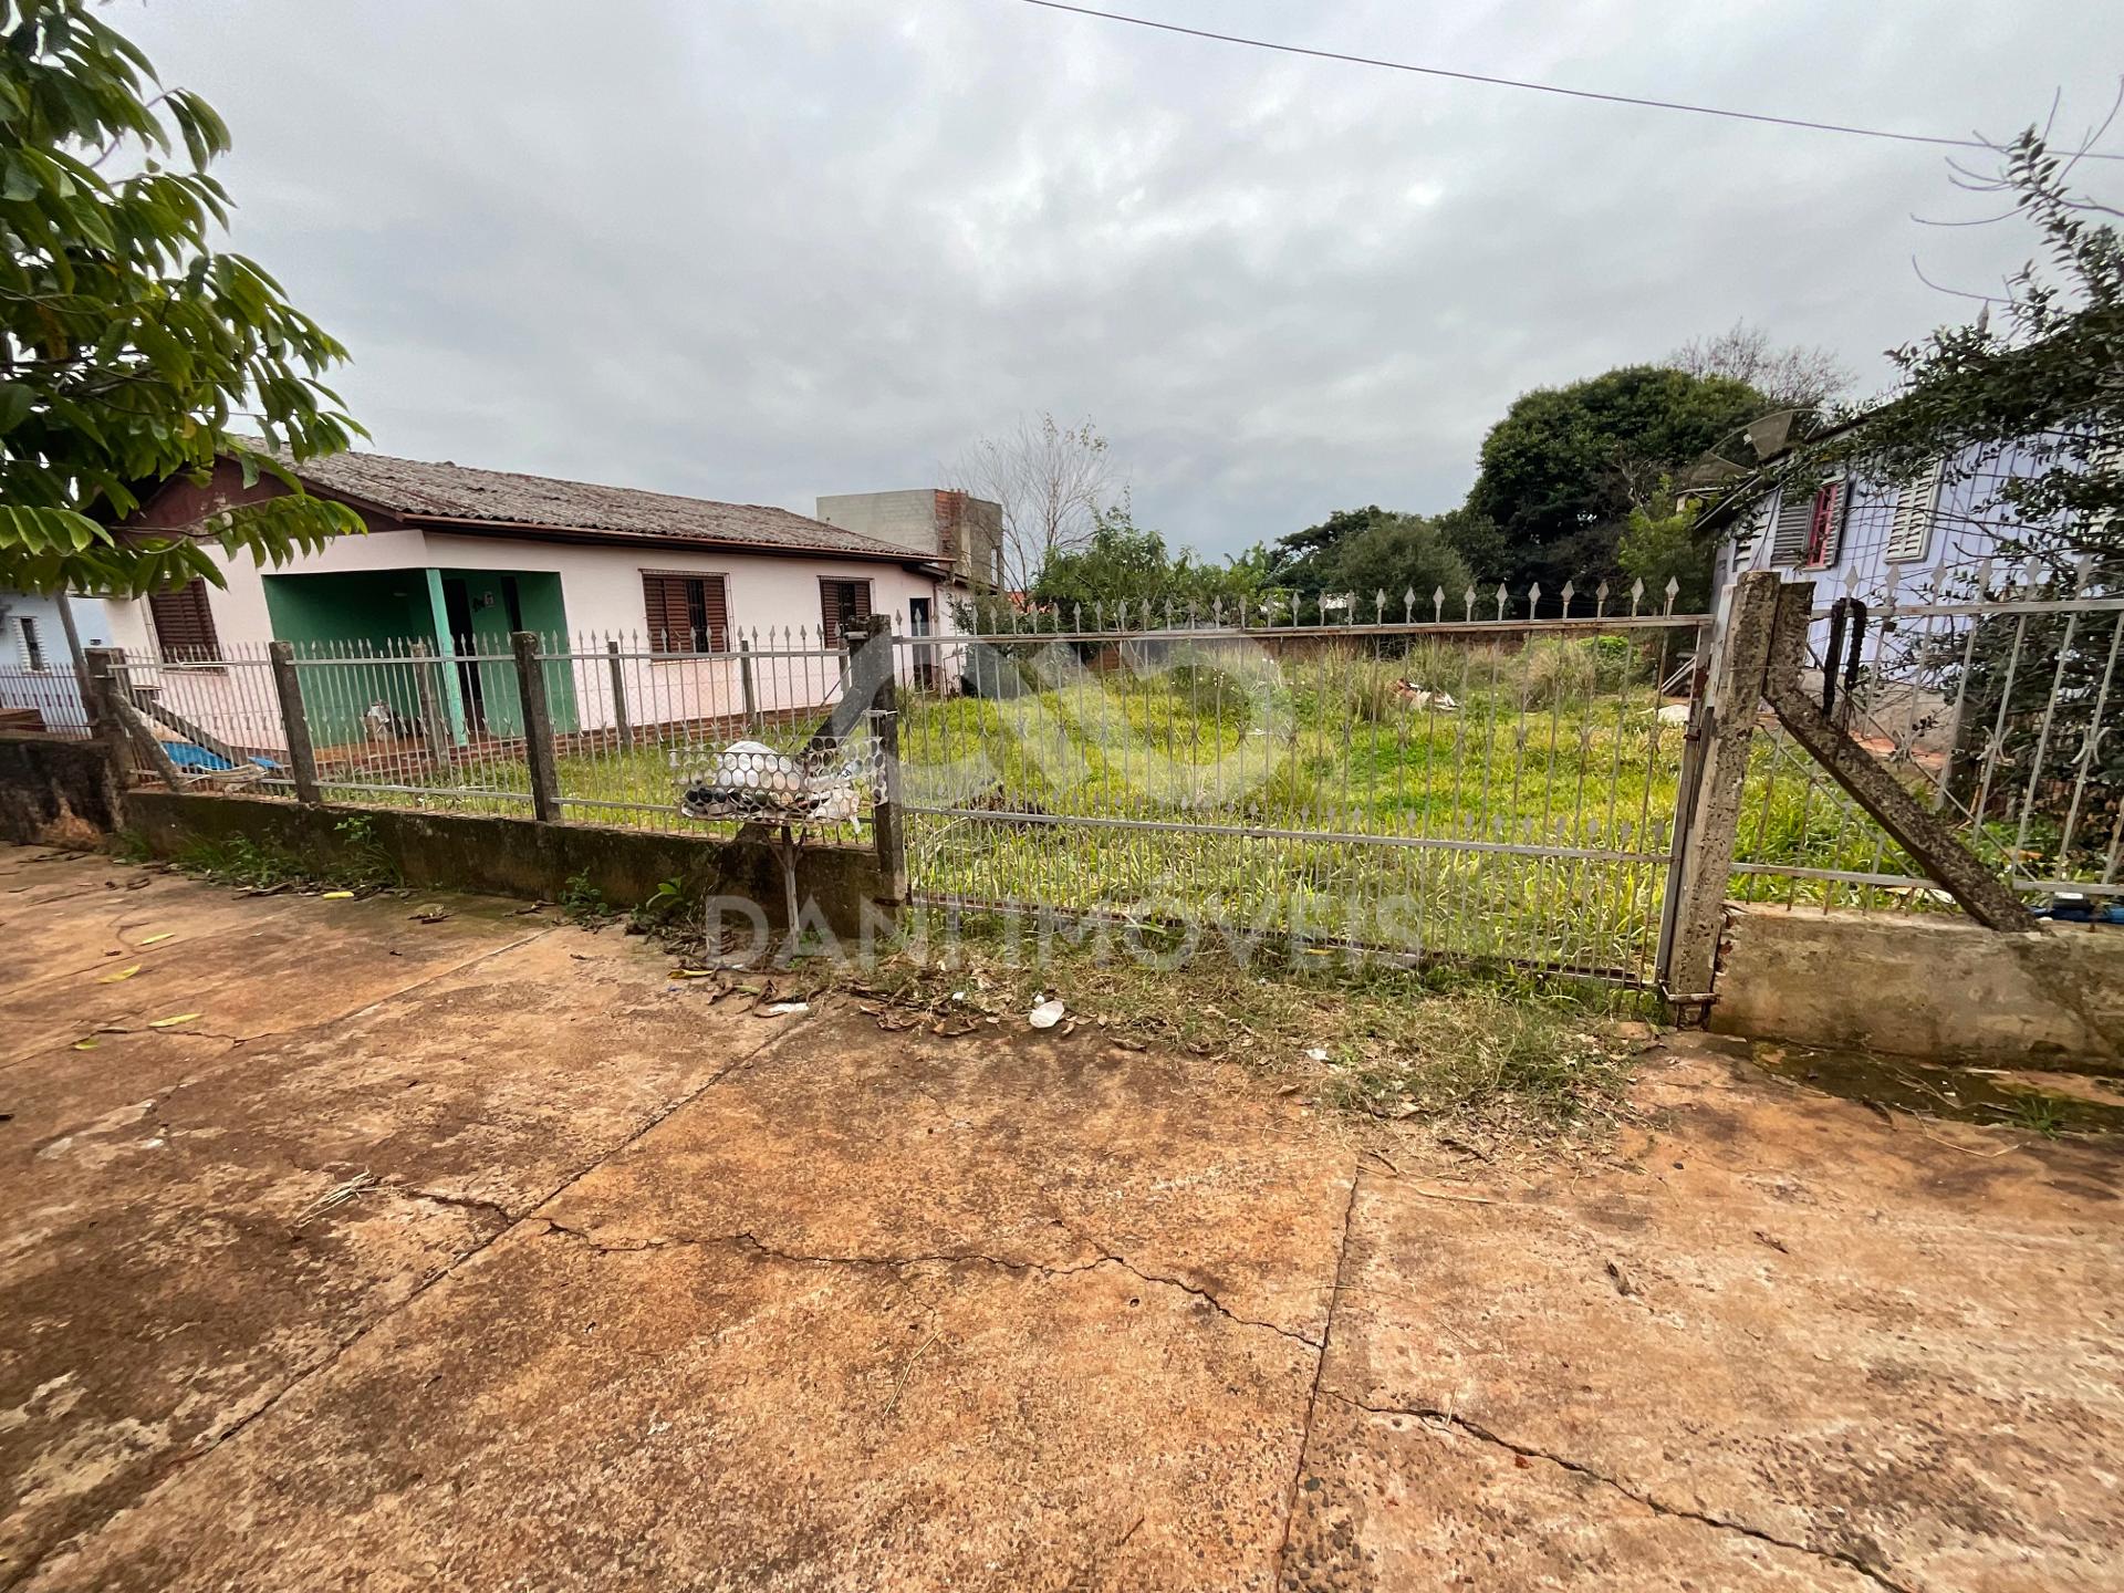
<path id="1" fill-rule="evenodd" d="M 1070 1037 L 884 1037 L 845 1007 L 542 1215 L 603 1243 L 1115 1255 L 1319 1340 L 1353 1149 L 1238 1068 Z"/>

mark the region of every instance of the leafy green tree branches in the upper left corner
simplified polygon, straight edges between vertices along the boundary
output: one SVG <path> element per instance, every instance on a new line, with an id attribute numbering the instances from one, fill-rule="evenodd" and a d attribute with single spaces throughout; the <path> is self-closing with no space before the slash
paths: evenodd
<path id="1" fill-rule="evenodd" d="M 204 531 L 282 561 L 361 518 L 308 497 L 302 461 L 359 431 L 319 376 L 346 350 L 289 308 L 242 255 L 210 246 L 227 193 L 206 168 L 229 144 L 212 106 L 155 91 L 147 57 L 87 0 L 0 0 L 0 586 L 142 593 L 221 582 L 193 537 L 110 523 L 215 457 L 289 493 Z"/>

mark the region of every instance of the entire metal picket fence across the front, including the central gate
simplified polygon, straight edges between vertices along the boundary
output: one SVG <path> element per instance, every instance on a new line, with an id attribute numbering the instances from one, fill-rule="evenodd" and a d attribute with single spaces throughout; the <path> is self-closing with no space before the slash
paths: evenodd
<path id="1" fill-rule="evenodd" d="M 2124 896 L 2124 595 L 1952 580 L 1869 607 L 1818 593 L 1814 688 L 2028 901 Z M 780 769 L 818 799 L 811 839 L 869 837 L 947 911 L 1661 986 L 1718 650 L 1672 605 L 1642 586 L 1000 605 L 937 633 L 91 665 L 185 786 L 735 835 L 765 809 L 699 792 Z M 1754 731 L 1729 894 L 1954 911 L 1771 716 Z"/>

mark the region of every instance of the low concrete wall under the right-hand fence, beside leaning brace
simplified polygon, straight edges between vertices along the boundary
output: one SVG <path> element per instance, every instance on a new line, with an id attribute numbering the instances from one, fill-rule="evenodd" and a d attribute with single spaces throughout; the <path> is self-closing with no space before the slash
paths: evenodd
<path id="1" fill-rule="evenodd" d="M 1729 903 L 1720 1034 L 1941 1062 L 2124 1070 L 2124 928 L 2001 935 L 1965 918 Z"/>

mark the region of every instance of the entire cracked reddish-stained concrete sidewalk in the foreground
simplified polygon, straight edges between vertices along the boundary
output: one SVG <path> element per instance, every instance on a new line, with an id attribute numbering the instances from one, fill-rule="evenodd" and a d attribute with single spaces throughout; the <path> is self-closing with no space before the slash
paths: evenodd
<path id="1" fill-rule="evenodd" d="M 0 852 L 0 1587 L 2124 1582 L 2103 1145 L 1659 1051 L 1468 1179 L 414 905 Z"/>

